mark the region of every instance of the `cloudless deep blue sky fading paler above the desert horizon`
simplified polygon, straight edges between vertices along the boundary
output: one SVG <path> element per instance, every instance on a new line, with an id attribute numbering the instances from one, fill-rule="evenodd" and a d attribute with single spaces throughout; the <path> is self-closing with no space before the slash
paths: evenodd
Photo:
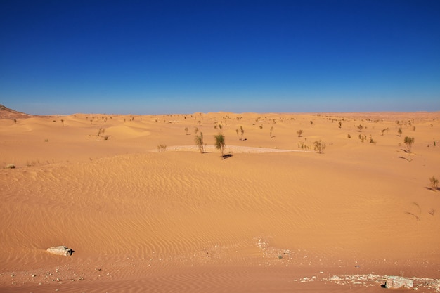
<path id="1" fill-rule="evenodd" d="M 0 103 L 75 112 L 440 110 L 440 1 L 0 0 Z"/>

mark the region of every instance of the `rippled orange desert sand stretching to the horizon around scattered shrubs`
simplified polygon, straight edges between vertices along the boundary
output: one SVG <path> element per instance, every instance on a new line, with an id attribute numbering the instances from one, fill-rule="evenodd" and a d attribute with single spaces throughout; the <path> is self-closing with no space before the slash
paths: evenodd
<path id="1" fill-rule="evenodd" d="M 440 112 L 4 112 L 0 292 L 439 292 L 439 140 Z"/>

